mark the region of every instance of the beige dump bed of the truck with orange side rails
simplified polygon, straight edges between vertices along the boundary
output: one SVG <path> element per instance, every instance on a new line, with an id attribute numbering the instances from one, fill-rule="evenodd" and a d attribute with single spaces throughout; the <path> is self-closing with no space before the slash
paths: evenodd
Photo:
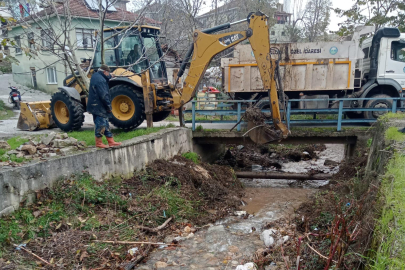
<path id="1" fill-rule="evenodd" d="M 272 47 L 282 52 L 280 72 L 284 91 L 353 89 L 355 63 L 364 55 L 354 41 L 272 44 Z M 225 91 L 264 91 L 253 53 L 250 45 L 238 45 L 233 58 L 221 59 Z"/>

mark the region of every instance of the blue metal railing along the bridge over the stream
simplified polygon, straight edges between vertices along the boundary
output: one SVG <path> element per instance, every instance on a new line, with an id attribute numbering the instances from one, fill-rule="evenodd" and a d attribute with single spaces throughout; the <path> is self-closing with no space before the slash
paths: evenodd
<path id="1" fill-rule="evenodd" d="M 298 125 L 298 124 L 314 124 L 314 126 L 319 125 L 337 125 L 337 131 L 342 130 L 342 124 L 355 124 L 355 123 L 372 123 L 376 122 L 376 119 L 345 119 L 346 112 L 393 112 L 396 113 L 397 111 L 405 111 L 405 107 L 397 106 L 398 101 L 405 101 L 405 98 L 388 98 L 387 100 L 392 100 L 392 107 L 391 108 L 349 108 L 343 107 L 345 101 L 360 101 L 360 100 L 381 100 L 381 98 L 330 98 L 329 101 L 336 101 L 338 106 L 336 108 L 326 108 L 326 109 L 296 109 L 291 108 L 292 102 L 311 102 L 311 101 L 325 101 L 325 99 L 290 99 L 287 103 L 287 112 L 286 112 L 286 124 L 290 129 L 291 125 Z M 184 113 L 191 113 L 192 120 L 185 121 L 186 123 L 192 124 L 192 130 L 195 131 L 197 123 L 239 123 L 237 125 L 237 130 L 241 131 L 242 123 L 241 120 L 242 115 L 245 113 L 246 110 L 242 109 L 242 103 L 254 103 L 257 100 L 193 100 L 192 101 L 192 109 L 186 110 Z M 218 107 L 220 109 L 213 109 L 213 110 L 201 110 L 196 109 L 197 103 L 218 103 Z M 402 104 L 403 102 L 401 102 Z M 237 109 L 232 109 L 233 104 L 237 105 Z M 231 108 L 231 109 L 229 109 Z M 270 110 L 262 110 L 262 112 L 269 113 Z M 280 111 L 284 113 L 283 110 Z M 302 114 L 314 114 L 314 119 L 306 119 L 306 120 L 292 120 L 291 115 L 302 115 Z M 212 115 L 212 116 L 237 116 L 236 120 L 196 120 L 196 114 L 200 115 Z M 317 114 L 336 114 L 337 119 L 316 119 Z"/>

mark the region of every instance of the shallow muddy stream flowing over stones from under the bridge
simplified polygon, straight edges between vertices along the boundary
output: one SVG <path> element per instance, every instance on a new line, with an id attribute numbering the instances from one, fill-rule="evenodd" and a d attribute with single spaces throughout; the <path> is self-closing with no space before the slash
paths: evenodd
<path id="1" fill-rule="evenodd" d="M 344 158 L 343 145 L 326 145 L 317 159 L 282 164 L 284 172 L 305 173 L 317 170 L 336 173 L 335 166 L 324 165 L 325 160 L 340 162 Z M 246 186 L 240 212 L 207 224 L 195 234 L 177 237 L 180 247 L 156 249 L 146 264 L 137 269 L 204 269 L 234 270 L 251 261 L 258 249 L 265 248 L 260 234 L 267 223 L 284 218 L 290 220 L 294 210 L 328 181 L 241 179 Z M 247 213 L 245 215 L 244 211 Z M 171 242 L 175 237 L 166 237 Z M 272 269 L 268 266 L 266 269 Z"/>

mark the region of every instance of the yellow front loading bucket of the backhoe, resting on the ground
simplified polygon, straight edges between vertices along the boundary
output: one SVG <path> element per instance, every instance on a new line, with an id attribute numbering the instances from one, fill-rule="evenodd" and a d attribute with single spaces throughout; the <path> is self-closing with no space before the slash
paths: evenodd
<path id="1" fill-rule="evenodd" d="M 17 128 L 34 131 L 55 127 L 51 115 L 51 101 L 21 102 Z"/>

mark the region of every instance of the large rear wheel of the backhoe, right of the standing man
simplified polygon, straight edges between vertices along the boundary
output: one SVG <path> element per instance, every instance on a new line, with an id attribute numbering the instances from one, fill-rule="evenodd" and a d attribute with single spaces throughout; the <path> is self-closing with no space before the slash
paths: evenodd
<path id="1" fill-rule="evenodd" d="M 110 122 L 124 130 L 132 130 L 145 120 L 143 95 L 128 85 L 116 85 L 110 90 L 113 116 Z"/>

